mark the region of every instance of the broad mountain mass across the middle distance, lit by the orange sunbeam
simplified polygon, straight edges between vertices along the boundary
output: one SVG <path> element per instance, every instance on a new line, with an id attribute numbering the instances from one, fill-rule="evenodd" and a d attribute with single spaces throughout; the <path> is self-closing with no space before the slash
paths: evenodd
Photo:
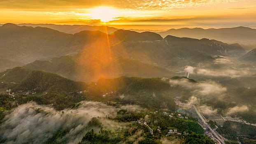
<path id="1" fill-rule="evenodd" d="M 30 63 L 24 67 L 80 81 L 123 75 L 170 77 L 168 70 L 172 67 L 211 62 L 212 55 L 242 56 L 246 53 L 239 44 L 205 38 L 170 35 L 163 38 L 152 32 L 130 30 L 116 30 L 109 35 L 84 30 L 73 35 L 12 23 L 0 27 L 0 51 L 1 59 L 17 62 L 5 68 Z"/>

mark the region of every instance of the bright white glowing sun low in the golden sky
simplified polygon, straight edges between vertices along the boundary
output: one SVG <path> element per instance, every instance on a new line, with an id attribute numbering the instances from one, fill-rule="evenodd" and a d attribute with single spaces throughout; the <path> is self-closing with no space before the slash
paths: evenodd
<path id="1" fill-rule="evenodd" d="M 118 11 L 111 7 L 97 7 L 91 10 L 90 16 L 93 19 L 100 19 L 102 22 L 109 22 L 117 16 Z"/>

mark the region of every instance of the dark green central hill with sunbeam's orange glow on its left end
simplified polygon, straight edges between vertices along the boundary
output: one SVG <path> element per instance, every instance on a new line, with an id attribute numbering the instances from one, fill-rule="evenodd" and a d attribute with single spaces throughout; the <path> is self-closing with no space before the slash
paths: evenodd
<path id="1" fill-rule="evenodd" d="M 91 83 L 88 95 L 100 101 L 135 104 L 149 109 L 175 109 L 170 85 L 160 78 L 119 77 Z M 107 93 L 107 94 L 106 94 Z M 102 95 L 106 95 L 102 98 Z"/>

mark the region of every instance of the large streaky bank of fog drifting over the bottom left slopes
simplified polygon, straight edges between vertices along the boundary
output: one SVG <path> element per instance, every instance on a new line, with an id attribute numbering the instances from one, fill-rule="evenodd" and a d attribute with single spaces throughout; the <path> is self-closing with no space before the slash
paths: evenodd
<path id="1" fill-rule="evenodd" d="M 38 108 L 40 108 L 39 113 L 35 111 Z M 29 102 L 17 107 L 6 116 L 5 122 L 0 126 L 0 142 L 43 144 L 56 132 L 65 130 L 67 132 L 64 133 L 64 137 L 57 139 L 57 142 L 78 143 L 85 133 L 91 130 L 87 127 L 87 123 L 92 117 L 99 116 L 102 124 L 109 129 L 126 128 L 124 124 L 106 118 L 106 116 L 115 116 L 117 110 L 100 102 L 84 101 L 77 109 L 65 109 L 62 113 L 50 106 Z"/>

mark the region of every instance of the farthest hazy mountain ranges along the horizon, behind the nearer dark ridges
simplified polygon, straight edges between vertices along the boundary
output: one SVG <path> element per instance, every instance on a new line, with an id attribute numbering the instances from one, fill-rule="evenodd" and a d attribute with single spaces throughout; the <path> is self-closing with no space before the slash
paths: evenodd
<path id="1" fill-rule="evenodd" d="M 111 34 L 114 33 L 118 28 L 109 27 L 109 26 L 89 26 L 89 25 L 56 25 L 56 24 L 32 24 L 32 23 L 20 23 L 16 24 L 17 26 L 31 26 L 35 27 L 43 27 L 43 28 L 51 28 L 54 30 L 58 30 L 63 33 L 75 34 L 84 30 L 95 31 L 98 30 L 102 33 Z M 1 26 L 1 25 L 0 25 Z M 179 28 L 179 29 L 170 29 L 167 31 L 161 30 L 133 30 L 136 32 L 145 32 L 151 31 L 160 34 L 162 37 L 166 37 L 167 35 L 173 35 L 176 37 L 191 37 L 196 39 L 216 39 L 225 43 L 239 43 L 242 45 L 250 45 L 255 46 L 255 35 L 256 29 L 248 28 L 248 27 L 234 27 L 234 28 Z"/>

